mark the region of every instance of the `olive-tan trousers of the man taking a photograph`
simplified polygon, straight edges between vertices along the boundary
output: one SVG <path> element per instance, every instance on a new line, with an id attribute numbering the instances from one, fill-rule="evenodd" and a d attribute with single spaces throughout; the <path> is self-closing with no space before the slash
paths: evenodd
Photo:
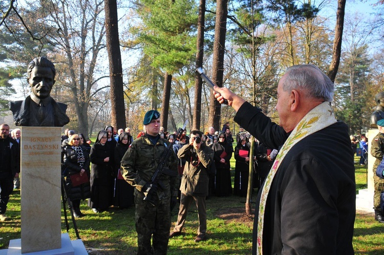
<path id="1" fill-rule="evenodd" d="M 174 228 L 175 232 L 180 232 L 183 229 L 185 219 L 187 218 L 188 208 L 194 200 L 196 203 L 199 217 L 199 228 L 197 230 L 197 234 L 205 235 L 207 231 L 207 212 L 205 205 L 205 196 L 187 196 L 183 193 L 181 193 L 180 197 L 180 208 L 179 215 L 177 217 L 177 222 Z"/>

